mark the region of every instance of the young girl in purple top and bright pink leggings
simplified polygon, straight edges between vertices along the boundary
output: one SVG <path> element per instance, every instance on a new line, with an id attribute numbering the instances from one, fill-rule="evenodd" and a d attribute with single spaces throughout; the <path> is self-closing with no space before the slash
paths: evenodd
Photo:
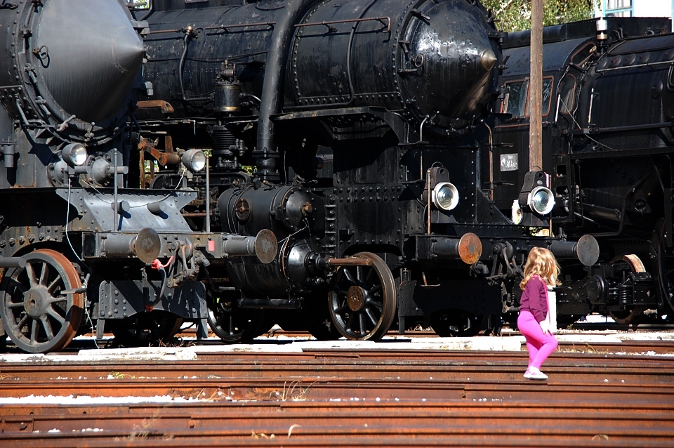
<path id="1" fill-rule="evenodd" d="M 548 376 L 541 372 L 541 364 L 557 348 L 557 338 L 550 325 L 548 286 L 560 284 L 557 280 L 560 268 L 555 256 L 548 249 L 534 247 L 529 251 L 527 264 L 524 265 L 524 279 L 520 288 L 524 290 L 520 299 L 520 316 L 517 327 L 527 339 L 529 367 L 524 378 L 546 380 Z"/>

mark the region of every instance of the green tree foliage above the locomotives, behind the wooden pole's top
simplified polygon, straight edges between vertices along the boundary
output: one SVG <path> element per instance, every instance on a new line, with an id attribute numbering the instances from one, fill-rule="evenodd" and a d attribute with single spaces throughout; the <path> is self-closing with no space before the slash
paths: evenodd
<path id="1" fill-rule="evenodd" d="M 594 15 L 599 0 L 543 0 L 543 26 L 585 20 Z M 482 0 L 503 21 L 504 31 L 531 28 L 531 0 Z"/>

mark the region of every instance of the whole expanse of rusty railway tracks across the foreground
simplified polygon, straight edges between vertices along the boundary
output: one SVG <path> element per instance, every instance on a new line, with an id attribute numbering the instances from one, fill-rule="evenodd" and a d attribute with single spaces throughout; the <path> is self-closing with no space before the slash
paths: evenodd
<path id="1" fill-rule="evenodd" d="M 553 354 L 543 382 L 522 378 L 522 351 L 194 347 L 193 360 L 17 357 L 0 363 L 0 444 L 670 447 L 674 357 L 595 345 Z"/>

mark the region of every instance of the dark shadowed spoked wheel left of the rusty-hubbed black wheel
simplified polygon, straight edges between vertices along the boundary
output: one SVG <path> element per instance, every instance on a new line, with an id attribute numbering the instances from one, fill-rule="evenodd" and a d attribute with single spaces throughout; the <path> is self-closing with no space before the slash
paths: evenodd
<path id="1" fill-rule="evenodd" d="M 253 308 L 239 308 L 233 301 L 221 300 L 209 308 L 211 331 L 227 343 L 251 341 L 265 333 L 265 311 Z"/>

